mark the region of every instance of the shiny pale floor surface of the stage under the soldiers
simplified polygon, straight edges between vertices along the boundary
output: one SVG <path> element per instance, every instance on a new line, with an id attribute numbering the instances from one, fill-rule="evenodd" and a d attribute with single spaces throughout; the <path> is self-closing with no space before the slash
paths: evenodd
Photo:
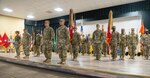
<path id="1" fill-rule="evenodd" d="M 14 58 L 15 53 L 0 53 L 0 56 Z M 23 53 L 21 55 L 21 59 L 23 57 Z M 42 54 L 40 57 L 34 57 L 32 53 L 30 54 L 30 61 L 40 62 L 42 63 L 45 60 L 44 55 Z M 52 63 L 57 64 L 60 59 L 58 54 L 52 54 Z M 66 66 L 70 67 L 80 67 L 86 69 L 107 71 L 107 72 L 115 72 L 122 74 L 133 74 L 133 75 L 146 75 L 150 76 L 150 60 L 144 60 L 141 57 L 135 57 L 135 60 L 129 59 L 128 56 L 125 57 L 124 61 L 118 60 L 111 61 L 111 56 L 102 57 L 101 61 L 95 60 L 93 55 L 79 55 L 78 62 L 71 61 L 71 55 L 67 56 L 67 64 Z"/>

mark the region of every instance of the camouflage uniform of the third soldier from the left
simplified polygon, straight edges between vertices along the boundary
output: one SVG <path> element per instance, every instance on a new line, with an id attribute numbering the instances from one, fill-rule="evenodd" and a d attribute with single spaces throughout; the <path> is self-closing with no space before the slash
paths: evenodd
<path id="1" fill-rule="evenodd" d="M 40 55 L 40 44 L 41 44 L 41 36 L 40 34 L 36 34 L 35 42 L 34 42 L 34 53 L 36 56 Z"/>

